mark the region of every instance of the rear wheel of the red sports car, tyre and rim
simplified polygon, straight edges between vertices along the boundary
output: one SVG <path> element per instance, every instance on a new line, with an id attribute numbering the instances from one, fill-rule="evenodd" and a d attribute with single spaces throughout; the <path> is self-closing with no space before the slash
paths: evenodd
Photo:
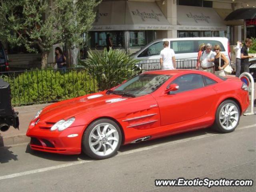
<path id="1" fill-rule="evenodd" d="M 222 133 L 235 130 L 240 120 L 240 109 L 233 100 L 225 100 L 218 106 L 215 114 L 214 128 Z"/>

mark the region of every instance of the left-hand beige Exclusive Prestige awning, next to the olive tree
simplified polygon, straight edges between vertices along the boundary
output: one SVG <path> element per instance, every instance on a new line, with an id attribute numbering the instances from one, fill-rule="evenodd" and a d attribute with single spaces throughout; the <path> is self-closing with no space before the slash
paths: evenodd
<path id="1" fill-rule="evenodd" d="M 91 31 L 167 30 L 168 26 L 155 2 L 103 1 Z"/>

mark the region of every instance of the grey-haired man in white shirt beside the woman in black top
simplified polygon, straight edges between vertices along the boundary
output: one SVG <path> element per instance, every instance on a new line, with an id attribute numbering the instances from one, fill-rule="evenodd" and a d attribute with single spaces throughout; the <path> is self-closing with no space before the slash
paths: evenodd
<path id="1" fill-rule="evenodd" d="M 212 51 L 212 45 L 206 44 L 205 45 L 205 51 L 202 53 L 202 56 L 200 57 L 200 66 L 201 70 L 211 72 L 214 74 L 214 52 Z"/>

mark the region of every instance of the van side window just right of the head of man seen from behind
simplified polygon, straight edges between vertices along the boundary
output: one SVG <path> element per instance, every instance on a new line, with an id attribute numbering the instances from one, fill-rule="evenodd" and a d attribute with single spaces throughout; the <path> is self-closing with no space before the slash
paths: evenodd
<path id="1" fill-rule="evenodd" d="M 171 41 L 170 47 L 174 50 L 175 54 L 198 52 L 198 44 L 195 40 Z"/>

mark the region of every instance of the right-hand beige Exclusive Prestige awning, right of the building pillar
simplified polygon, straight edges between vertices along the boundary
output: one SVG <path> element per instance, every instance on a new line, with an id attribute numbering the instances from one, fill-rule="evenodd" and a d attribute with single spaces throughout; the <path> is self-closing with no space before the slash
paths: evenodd
<path id="1" fill-rule="evenodd" d="M 177 6 L 177 22 L 187 30 L 226 30 L 226 25 L 213 8 Z"/>

